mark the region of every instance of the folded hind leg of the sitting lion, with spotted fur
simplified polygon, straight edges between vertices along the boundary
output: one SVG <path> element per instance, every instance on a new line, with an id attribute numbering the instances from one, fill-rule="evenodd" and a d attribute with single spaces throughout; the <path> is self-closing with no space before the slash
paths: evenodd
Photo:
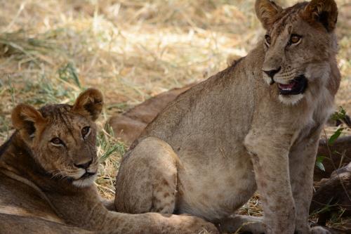
<path id="1" fill-rule="evenodd" d="M 121 162 L 116 181 L 118 212 L 172 214 L 176 204 L 178 156 L 159 138 L 148 137 Z"/>

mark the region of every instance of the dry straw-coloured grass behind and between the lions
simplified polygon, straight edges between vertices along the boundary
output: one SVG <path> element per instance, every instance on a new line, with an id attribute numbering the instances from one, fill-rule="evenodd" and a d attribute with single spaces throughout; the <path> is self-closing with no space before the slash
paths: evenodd
<path id="1" fill-rule="evenodd" d="M 225 68 L 227 58 L 244 56 L 263 35 L 253 0 L 0 2 L 0 143 L 11 134 L 17 103 L 72 103 L 94 86 L 107 103 L 102 129 L 116 112 Z M 351 4 L 337 2 L 338 105 L 351 112 Z M 99 138 L 104 162 L 97 183 L 111 198 L 125 148 L 109 132 Z M 256 198 L 241 212 L 259 215 Z"/>

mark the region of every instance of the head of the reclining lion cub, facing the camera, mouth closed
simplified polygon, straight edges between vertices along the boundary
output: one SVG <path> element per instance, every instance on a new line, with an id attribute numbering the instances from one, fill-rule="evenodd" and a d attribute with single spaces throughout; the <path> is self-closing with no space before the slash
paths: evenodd
<path id="1" fill-rule="evenodd" d="M 98 170 L 96 125 L 102 94 L 96 89 L 81 93 L 74 105 L 46 105 L 36 110 L 20 104 L 12 122 L 32 157 L 53 177 L 90 186 Z"/>

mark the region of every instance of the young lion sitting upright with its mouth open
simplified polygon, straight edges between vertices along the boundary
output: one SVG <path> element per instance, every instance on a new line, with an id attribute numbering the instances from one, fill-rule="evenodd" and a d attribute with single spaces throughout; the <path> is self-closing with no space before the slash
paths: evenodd
<path id="1" fill-rule="evenodd" d="M 337 6 L 257 0 L 256 14 L 267 30 L 256 48 L 178 96 L 133 143 L 117 176 L 119 211 L 188 213 L 237 228 L 258 221 L 230 218 L 258 189 L 263 223 L 244 229 L 327 232 L 307 221 L 319 134 L 340 82 Z"/>

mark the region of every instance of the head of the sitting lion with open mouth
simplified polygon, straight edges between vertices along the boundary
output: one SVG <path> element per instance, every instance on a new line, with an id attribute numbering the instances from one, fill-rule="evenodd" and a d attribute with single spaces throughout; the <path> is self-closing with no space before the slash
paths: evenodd
<path id="1" fill-rule="evenodd" d="M 279 100 L 295 104 L 323 89 L 337 51 L 335 1 L 312 0 L 283 9 L 257 0 L 256 14 L 267 30 L 263 77 L 277 86 Z"/>

